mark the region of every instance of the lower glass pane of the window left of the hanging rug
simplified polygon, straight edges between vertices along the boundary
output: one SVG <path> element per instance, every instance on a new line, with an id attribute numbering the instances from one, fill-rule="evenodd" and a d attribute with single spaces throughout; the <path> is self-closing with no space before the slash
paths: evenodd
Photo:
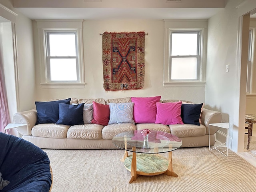
<path id="1" fill-rule="evenodd" d="M 76 59 L 50 59 L 51 81 L 77 81 Z"/>

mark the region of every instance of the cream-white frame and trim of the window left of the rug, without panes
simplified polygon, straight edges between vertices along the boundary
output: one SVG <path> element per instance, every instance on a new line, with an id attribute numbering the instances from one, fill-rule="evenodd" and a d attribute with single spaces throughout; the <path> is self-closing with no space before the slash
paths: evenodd
<path id="1" fill-rule="evenodd" d="M 36 20 L 40 49 L 40 71 L 42 88 L 84 88 L 84 61 L 82 47 L 82 20 Z M 51 81 L 48 56 L 48 32 L 75 32 L 77 37 L 77 81 Z M 61 57 L 58 57 L 61 58 Z M 70 57 L 71 58 L 71 57 Z"/>

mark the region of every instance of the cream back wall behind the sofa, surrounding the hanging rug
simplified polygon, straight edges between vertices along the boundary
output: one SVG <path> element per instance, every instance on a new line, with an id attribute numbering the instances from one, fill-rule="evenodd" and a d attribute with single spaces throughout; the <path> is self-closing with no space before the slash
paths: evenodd
<path id="1" fill-rule="evenodd" d="M 109 91 L 103 88 L 102 36 L 107 32 L 148 33 L 145 38 L 145 83 L 142 90 Z M 161 99 L 184 99 L 204 102 L 204 87 L 163 87 L 164 21 L 163 20 L 85 20 L 83 46 L 85 88 L 41 88 L 38 34 L 34 22 L 36 48 L 36 100 L 51 98 L 121 98 L 128 96 L 162 96 Z"/>

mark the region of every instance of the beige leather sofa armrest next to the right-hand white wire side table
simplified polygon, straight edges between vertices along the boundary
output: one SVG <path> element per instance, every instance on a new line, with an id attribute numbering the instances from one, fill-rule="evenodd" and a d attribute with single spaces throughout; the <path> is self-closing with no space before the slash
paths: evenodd
<path id="1" fill-rule="evenodd" d="M 208 126 L 210 123 L 221 123 L 222 122 L 222 114 L 218 111 L 212 111 L 203 108 L 201 114 L 201 121 L 204 126 L 206 126 L 206 135 L 209 134 Z M 210 127 L 210 135 L 216 133 L 218 131 L 218 127 L 211 126 Z"/>

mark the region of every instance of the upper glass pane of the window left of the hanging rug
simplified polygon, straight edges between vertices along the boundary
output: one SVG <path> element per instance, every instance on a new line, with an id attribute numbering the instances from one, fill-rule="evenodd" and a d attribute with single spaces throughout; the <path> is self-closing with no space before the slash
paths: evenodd
<path id="1" fill-rule="evenodd" d="M 75 34 L 49 34 L 50 56 L 76 56 Z"/>

